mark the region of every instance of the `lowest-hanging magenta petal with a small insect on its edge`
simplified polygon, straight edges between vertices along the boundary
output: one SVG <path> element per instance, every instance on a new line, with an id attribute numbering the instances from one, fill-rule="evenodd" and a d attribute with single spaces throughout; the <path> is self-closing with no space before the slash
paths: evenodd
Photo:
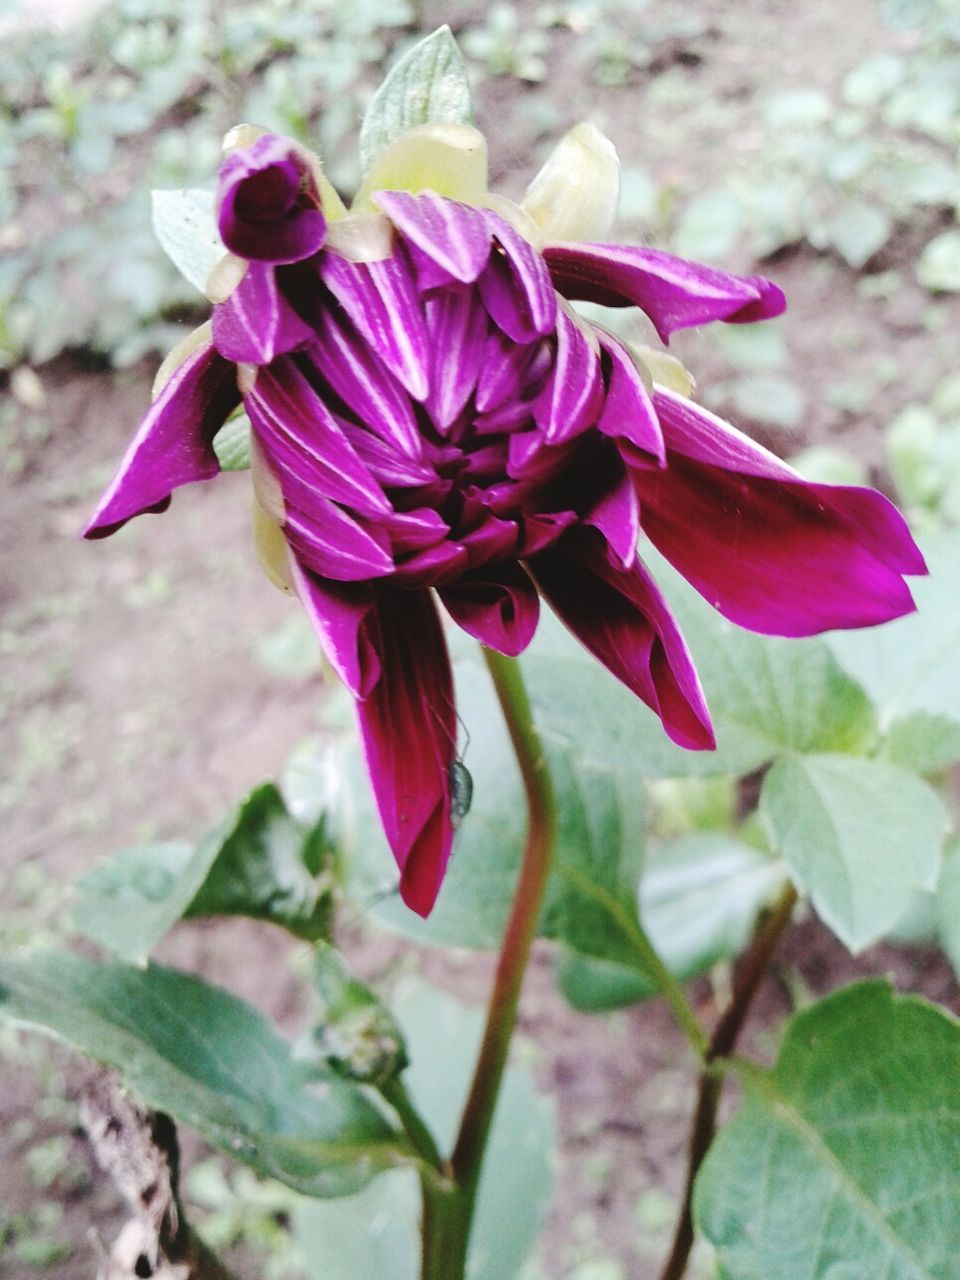
<path id="1" fill-rule="evenodd" d="M 401 896 L 428 915 L 453 844 L 457 714 L 447 645 L 426 591 L 384 591 L 366 626 L 381 663 L 380 678 L 357 703 L 366 765 L 401 869 Z"/>

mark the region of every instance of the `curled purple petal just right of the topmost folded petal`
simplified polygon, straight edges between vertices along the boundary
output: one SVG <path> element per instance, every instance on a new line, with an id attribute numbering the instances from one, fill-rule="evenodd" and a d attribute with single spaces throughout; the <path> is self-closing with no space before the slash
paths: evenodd
<path id="1" fill-rule="evenodd" d="M 500 252 L 480 276 L 480 297 L 490 319 L 513 342 L 545 338 L 557 323 L 557 296 L 540 253 L 497 214 L 486 212 Z"/>

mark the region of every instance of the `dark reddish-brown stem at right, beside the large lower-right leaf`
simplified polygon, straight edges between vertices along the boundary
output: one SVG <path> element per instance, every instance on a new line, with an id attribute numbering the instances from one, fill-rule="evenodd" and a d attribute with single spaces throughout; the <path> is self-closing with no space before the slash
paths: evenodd
<path id="1" fill-rule="evenodd" d="M 677 1219 L 669 1257 L 660 1272 L 660 1280 L 681 1280 L 690 1258 L 690 1249 L 694 1245 L 694 1183 L 717 1132 L 717 1107 L 723 1088 L 723 1075 L 717 1070 L 714 1064 L 721 1059 L 730 1057 L 736 1047 L 737 1037 L 750 1011 L 750 1005 L 760 986 L 760 980 L 767 973 L 773 952 L 777 950 L 780 940 L 783 936 L 783 931 L 790 924 L 796 899 L 796 890 L 787 882 L 771 911 L 760 920 L 750 946 L 737 968 L 731 1001 L 721 1015 L 710 1037 L 710 1043 L 704 1056 L 704 1070 L 700 1073 L 694 1123 L 690 1128 L 684 1203 Z"/>

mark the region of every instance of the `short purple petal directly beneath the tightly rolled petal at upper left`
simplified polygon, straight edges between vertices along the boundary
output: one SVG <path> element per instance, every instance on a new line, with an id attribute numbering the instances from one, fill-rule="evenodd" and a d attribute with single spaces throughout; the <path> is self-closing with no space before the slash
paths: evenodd
<path id="1" fill-rule="evenodd" d="M 214 307 L 214 346 L 238 365 L 269 365 L 312 338 L 284 297 L 282 276 L 266 262 L 251 262 L 233 293 Z"/>

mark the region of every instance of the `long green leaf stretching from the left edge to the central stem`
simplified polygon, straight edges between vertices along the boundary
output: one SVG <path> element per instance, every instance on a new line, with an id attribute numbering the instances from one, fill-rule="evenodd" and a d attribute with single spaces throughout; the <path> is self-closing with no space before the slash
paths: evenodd
<path id="1" fill-rule="evenodd" d="M 255 1009 L 172 969 L 3 959 L 0 1016 L 115 1068 L 147 1106 L 306 1196 L 348 1194 L 413 1158 L 358 1088 L 311 1085 Z"/>

